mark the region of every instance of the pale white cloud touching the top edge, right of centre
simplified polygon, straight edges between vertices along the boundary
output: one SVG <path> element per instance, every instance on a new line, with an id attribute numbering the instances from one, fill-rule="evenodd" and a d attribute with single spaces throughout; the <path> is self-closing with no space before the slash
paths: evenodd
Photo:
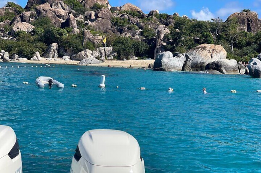
<path id="1" fill-rule="evenodd" d="M 151 10 L 165 10 L 174 6 L 174 2 L 171 0 L 141 0 L 140 7 L 142 10 L 151 11 Z"/>

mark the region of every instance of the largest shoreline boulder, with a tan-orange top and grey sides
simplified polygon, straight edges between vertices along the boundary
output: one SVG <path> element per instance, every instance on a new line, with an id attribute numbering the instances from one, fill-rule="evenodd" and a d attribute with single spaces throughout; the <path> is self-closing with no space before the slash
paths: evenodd
<path id="1" fill-rule="evenodd" d="M 186 54 L 191 56 L 191 63 L 186 64 L 186 69 L 192 71 L 202 71 L 208 63 L 226 59 L 227 52 L 221 45 L 215 44 L 201 44 L 191 50 L 188 50 Z"/>

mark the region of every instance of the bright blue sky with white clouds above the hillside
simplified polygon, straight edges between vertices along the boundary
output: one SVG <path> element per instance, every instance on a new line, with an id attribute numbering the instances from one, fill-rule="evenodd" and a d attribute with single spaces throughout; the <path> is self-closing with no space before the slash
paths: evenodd
<path id="1" fill-rule="evenodd" d="M 0 7 L 8 1 L 0 0 Z M 25 7 L 27 0 L 12 2 Z M 211 20 L 214 17 L 226 20 L 230 14 L 240 12 L 243 9 L 251 9 L 251 11 L 261 13 L 261 0 L 109 0 L 109 3 L 111 6 L 132 3 L 142 9 L 144 13 L 158 9 L 160 13 L 172 15 L 177 12 L 180 16 L 187 15 L 189 18 L 198 20 Z"/>

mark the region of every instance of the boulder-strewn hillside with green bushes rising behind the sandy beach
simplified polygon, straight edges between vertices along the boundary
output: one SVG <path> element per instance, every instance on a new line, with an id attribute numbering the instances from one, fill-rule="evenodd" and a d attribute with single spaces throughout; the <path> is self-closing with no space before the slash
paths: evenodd
<path id="1" fill-rule="evenodd" d="M 108 0 L 29 0 L 24 9 L 8 2 L 0 8 L 0 48 L 20 58 L 31 59 L 38 52 L 40 57 L 68 60 L 155 59 L 166 51 L 187 52 L 198 56 L 193 58 L 196 62 L 200 53 L 189 50 L 220 44 L 225 58 L 248 61 L 261 51 L 259 21 L 257 13 L 250 11 L 234 13 L 226 22 L 197 21 L 158 10 L 145 14 L 130 3 L 112 7 Z M 212 49 L 207 49 L 212 56 Z M 202 63 L 193 60 L 179 69 L 203 70 L 210 61 Z"/>

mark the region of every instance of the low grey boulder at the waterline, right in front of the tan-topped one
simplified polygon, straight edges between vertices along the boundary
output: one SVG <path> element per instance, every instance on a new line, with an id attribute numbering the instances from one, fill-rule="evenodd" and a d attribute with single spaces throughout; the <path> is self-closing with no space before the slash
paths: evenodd
<path id="1" fill-rule="evenodd" d="M 210 62 L 205 68 L 206 70 L 217 70 L 223 74 L 240 74 L 238 63 L 235 59 L 219 59 L 217 61 Z"/>

